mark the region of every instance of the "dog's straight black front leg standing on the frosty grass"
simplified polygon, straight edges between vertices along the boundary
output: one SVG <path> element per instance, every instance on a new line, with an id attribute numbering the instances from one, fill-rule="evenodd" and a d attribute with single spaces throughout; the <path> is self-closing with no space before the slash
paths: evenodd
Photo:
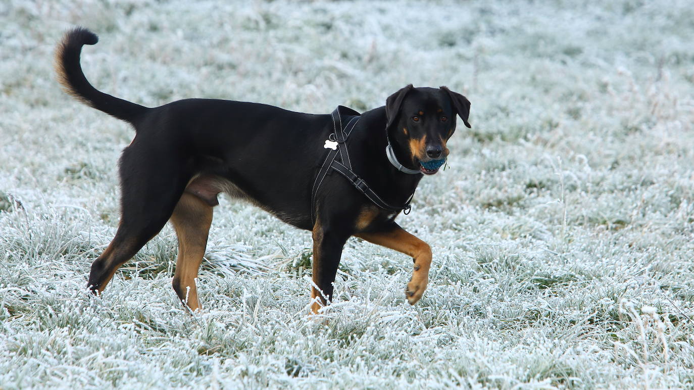
<path id="1" fill-rule="evenodd" d="M 340 264 L 342 248 L 349 234 L 330 228 L 327 223 L 317 221 L 313 228 L 313 282 L 311 298 L 314 314 L 332 300 L 332 283 L 335 282 L 337 266 Z M 316 289 L 318 287 L 318 289 Z M 317 298 L 317 299 L 316 299 Z"/>

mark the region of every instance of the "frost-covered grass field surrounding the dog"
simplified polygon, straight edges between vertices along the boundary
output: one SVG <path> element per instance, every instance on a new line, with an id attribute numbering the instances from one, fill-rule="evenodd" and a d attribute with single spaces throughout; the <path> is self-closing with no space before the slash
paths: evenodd
<path id="1" fill-rule="evenodd" d="M 691 1 L 0 3 L 0 389 L 694 388 Z M 310 318 L 309 232 L 226 198 L 189 314 L 170 226 L 87 294 L 134 131 L 60 90 L 328 113 L 408 83 L 472 102 L 448 169 L 398 223 L 412 260 L 350 239 Z M 291 156 L 287 156 L 291 158 Z"/>

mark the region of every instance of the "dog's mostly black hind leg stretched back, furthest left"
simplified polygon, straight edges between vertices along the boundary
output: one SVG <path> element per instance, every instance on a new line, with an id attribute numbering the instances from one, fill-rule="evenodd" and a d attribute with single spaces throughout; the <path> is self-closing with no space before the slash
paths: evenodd
<path id="1" fill-rule="evenodd" d="M 162 230 L 189 180 L 173 159 L 145 152 L 131 145 L 121 157 L 121 221 L 108 248 L 92 263 L 87 287 L 95 294 Z"/>

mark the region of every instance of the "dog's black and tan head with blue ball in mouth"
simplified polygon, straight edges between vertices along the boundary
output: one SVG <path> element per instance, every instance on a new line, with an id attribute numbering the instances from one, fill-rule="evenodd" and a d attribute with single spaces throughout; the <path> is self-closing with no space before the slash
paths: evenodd
<path id="1" fill-rule="evenodd" d="M 437 173 L 448 156 L 446 142 L 455 132 L 456 115 L 471 127 L 470 101 L 447 87 L 414 88 L 410 84 L 386 100 L 389 136 L 408 155 L 412 167 L 427 175 Z"/>

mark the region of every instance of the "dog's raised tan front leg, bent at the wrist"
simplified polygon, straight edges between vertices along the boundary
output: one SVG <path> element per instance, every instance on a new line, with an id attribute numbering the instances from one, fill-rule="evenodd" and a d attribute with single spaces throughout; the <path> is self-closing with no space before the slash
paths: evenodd
<path id="1" fill-rule="evenodd" d="M 356 237 L 412 256 L 414 271 L 407 283 L 405 297 L 410 305 L 417 303 L 429 282 L 429 268 L 432 264 L 432 249 L 429 244 L 409 234 L 395 222 L 378 232 L 359 233 Z"/>

